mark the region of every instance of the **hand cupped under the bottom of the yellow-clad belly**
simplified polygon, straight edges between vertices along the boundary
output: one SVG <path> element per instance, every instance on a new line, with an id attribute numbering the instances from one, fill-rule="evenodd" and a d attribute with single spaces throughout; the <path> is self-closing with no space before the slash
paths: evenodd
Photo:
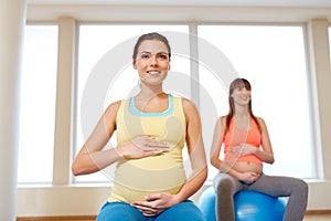
<path id="1" fill-rule="evenodd" d="M 154 217 L 175 203 L 174 194 L 160 192 L 148 194 L 146 201 L 134 201 L 131 206 L 140 210 L 146 217 Z"/>

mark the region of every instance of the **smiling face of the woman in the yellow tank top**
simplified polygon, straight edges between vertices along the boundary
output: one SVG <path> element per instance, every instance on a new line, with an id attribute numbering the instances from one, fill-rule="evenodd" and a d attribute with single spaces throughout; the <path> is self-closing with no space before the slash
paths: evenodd
<path id="1" fill-rule="evenodd" d="M 170 70 L 167 45 L 158 40 L 142 41 L 134 60 L 134 67 L 138 71 L 142 84 L 161 84 Z"/>

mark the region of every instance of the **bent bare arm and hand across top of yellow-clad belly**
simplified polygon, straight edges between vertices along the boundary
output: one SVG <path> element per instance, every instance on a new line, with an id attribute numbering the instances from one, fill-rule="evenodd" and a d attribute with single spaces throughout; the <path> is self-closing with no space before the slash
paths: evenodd
<path id="1" fill-rule="evenodd" d="M 103 150 L 116 129 L 119 105 L 120 102 L 109 105 L 82 147 L 72 165 L 72 171 L 75 176 L 99 171 L 122 158 L 143 158 L 168 150 L 168 144 L 157 141 L 148 136 L 136 137 L 131 143 Z"/>

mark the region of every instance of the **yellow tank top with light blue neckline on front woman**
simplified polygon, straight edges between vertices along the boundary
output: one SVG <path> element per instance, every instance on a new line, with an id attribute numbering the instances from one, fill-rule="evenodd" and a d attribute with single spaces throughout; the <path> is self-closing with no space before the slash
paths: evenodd
<path id="1" fill-rule="evenodd" d="M 178 193 L 185 182 L 182 149 L 186 125 L 182 99 L 169 95 L 168 103 L 168 109 L 162 113 L 141 113 L 134 97 L 121 101 L 116 119 L 118 145 L 148 135 L 167 141 L 170 149 L 158 156 L 120 160 L 108 201 L 129 203 L 145 200 L 152 192 Z"/>

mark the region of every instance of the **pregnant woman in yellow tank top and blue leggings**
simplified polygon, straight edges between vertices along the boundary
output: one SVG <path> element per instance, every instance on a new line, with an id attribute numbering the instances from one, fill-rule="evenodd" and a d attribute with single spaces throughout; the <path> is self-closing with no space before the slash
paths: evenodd
<path id="1" fill-rule="evenodd" d="M 97 220 L 204 220 L 189 200 L 206 179 L 201 122 L 194 104 L 163 92 L 171 50 L 159 33 L 141 35 L 132 65 L 140 92 L 108 106 L 76 156 L 73 173 L 86 175 L 116 164 L 114 186 Z M 117 147 L 103 150 L 114 131 Z M 186 144 L 192 173 L 186 178 Z"/>

